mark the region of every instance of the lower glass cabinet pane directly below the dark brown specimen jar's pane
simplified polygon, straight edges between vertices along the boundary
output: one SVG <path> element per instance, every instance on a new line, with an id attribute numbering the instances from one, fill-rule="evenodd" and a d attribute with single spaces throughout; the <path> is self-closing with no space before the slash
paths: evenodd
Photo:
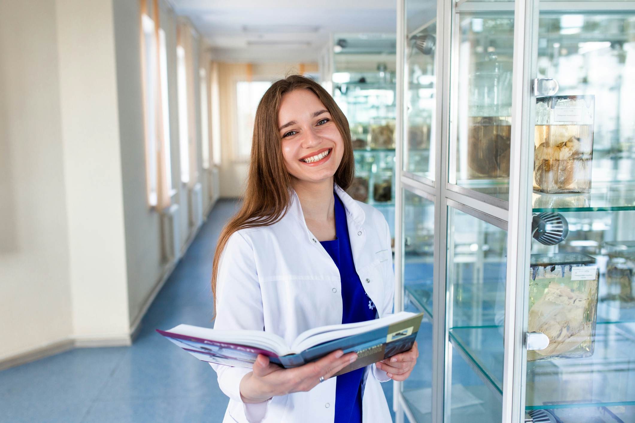
<path id="1" fill-rule="evenodd" d="M 448 207 L 445 421 L 499 422 L 504 356 L 505 223 Z"/>

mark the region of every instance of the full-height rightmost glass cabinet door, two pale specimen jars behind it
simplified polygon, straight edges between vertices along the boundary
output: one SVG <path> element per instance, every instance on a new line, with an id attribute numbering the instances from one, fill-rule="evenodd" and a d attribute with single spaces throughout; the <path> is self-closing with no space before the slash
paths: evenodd
<path id="1" fill-rule="evenodd" d="M 635 422 L 635 1 L 534 4 L 524 411 Z"/>

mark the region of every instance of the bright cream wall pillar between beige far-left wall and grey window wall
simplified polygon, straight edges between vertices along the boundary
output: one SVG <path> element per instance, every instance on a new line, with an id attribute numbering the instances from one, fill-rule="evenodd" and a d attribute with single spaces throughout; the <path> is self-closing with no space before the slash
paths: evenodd
<path id="1" fill-rule="evenodd" d="M 130 334 L 126 174 L 112 1 L 57 0 L 56 12 L 73 334 L 80 341 L 125 343 Z"/>

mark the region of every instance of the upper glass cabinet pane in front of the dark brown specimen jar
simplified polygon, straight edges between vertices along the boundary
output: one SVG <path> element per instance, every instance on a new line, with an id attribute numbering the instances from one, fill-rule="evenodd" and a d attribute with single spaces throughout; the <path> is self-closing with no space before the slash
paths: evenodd
<path id="1" fill-rule="evenodd" d="M 509 195 L 512 2 L 457 2 L 451 21 L 449 189 L 506 207 Z M 471 193 L 467 193 L 471 190 Z"/>

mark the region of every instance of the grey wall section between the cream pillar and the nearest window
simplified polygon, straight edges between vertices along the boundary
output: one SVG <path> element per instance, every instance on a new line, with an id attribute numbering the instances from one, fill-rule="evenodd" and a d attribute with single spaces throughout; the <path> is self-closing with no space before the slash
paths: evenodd
<path id="1" fill-rule="evenodd" d="M 161 221 L 159 212 L 150 208 L 147 201 L 139 4 L 137 1 L 114 0 L 112 6 L 124 181 L 128 307 L 130 322 L 134 324 L 161 278 Z"/>

